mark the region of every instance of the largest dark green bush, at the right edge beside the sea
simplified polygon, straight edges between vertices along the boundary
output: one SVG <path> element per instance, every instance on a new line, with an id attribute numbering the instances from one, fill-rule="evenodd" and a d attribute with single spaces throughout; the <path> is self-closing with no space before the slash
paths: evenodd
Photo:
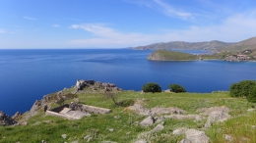
<path id="1" fill-rule="evenodd" d="M 238 83 L 233 83 L 229 87 L 230 96 L 243 97 L 250 93 L 250 90 L 256 86 L 255 80 L 242 80 Z"/>

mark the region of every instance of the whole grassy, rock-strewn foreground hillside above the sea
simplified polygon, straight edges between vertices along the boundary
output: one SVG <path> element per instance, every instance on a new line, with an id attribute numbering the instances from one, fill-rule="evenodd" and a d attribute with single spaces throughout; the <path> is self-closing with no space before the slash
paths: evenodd
<path id="1" fill-rule="evenodd" d="M 93 114 L 83 119 L 63 119 L 45 116 L 43 109 L 37 108 L 37 114 L 31 118 L 26 119 L 25 114 L 19 118 L 20 120 L 17 119 L 21 122 L 20 125 L 0 125 L 0 142 L 191 141 L 193 143 L 198 140 L 197 143 L 210 141 L 255 143 L 256 141 L 256 110 L 251 109 L 255 104 L 248 103 L 244 98 L 231 98 L 228 92 L 201 94 L 118 91 L 113 94 L 118 96 L 117 101 L 122 103 L 122 106 L 116 106 L 112 100 L 104 98 L 101 92 L 103 88 L 99 85 L 106 84 L 97 84 L 98 82 L 93 84 L 91 81 L 84 84 L 84 88 L 80 88 L 78 92 L 74 86 L 50 95 L 52 98 L 59 95 L 66 97 L 76 92 L 76 97 L 65 98 L 64 104 L 71 102 L 86 104 L 111 109 L 111 113 Z M 82 87 L 80 85 L 83 84 L 80 83 L 77 85 Z M 46 98 L 44 97 L 43 100 Z M 54 108 L 58 105 L 51 103 L 48 106 Z"/>

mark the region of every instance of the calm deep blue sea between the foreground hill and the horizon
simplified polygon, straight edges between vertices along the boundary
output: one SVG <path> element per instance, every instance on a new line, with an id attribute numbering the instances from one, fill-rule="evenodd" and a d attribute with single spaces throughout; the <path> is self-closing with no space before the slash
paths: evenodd
<path id="1" fill-rule="evenodd" d="M 253 62 L 151 62 L 146 60 L 151 52 L 0 50 L 0 110 L 10 116 L 29 111 L 36 99 L 71 87 L 77 79 L 112 82 L 136 91 L 149 81 L 160 83 L 162 89 L 178 83 L 189 92 L 228 90 L 233 82 L 256 79 Z"/>

